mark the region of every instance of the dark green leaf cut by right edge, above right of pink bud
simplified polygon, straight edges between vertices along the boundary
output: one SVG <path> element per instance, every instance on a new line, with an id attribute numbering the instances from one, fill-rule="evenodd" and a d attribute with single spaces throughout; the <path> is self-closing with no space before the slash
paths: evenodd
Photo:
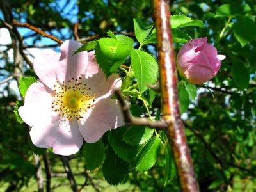
<path id="1" fill-rule="evenodd" d="M 235 24 L 234 33 L 239 41 L 239 43 L 244 47 L 244 45 L 252 42 L 256 37 L 256 22 L 255 16 L 244 16 L 237 17 L 237 22 Z M 246 31 L 246 33 L 244 33 Z"/>

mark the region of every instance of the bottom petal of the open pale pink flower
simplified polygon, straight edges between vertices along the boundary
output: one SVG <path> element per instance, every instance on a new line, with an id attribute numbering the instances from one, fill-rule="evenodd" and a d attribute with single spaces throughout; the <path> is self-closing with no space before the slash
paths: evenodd
<path id="1" fill-rule="evenodd" d="M 77 121 L 60 120 L 59 117 L 44 118 L 30 131 L 32 143 L 37 147 L 52 147 L 54 154 L 75 154 L 83 144 Z"/>

